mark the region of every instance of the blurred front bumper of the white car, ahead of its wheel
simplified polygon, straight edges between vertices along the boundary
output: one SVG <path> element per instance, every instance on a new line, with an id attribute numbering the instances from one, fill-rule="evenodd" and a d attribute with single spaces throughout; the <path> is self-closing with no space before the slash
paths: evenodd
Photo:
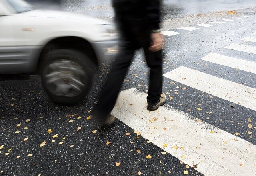
<path id="1" fill-rule="evenodd" d="M 103 63 L 113 58 L 119 51 L 118 40 L 110 41 L 91 41 L 90 42 L 96 53 L 98 63 Z"/>

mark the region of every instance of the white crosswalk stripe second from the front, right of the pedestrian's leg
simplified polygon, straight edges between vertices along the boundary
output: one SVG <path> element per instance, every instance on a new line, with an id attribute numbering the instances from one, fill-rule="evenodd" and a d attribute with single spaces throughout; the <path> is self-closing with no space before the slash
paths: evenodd
<path id="1" fill-rule="evenodd" d="M 180 66 L 164 74 L 164 76 L 202 92 L 256 111 L 255 88 L 192 70 L 184 66 Z"/>

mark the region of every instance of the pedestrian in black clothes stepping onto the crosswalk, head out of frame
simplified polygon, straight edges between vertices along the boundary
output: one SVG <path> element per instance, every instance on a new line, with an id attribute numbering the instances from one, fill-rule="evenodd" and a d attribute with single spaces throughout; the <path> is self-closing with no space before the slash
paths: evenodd
<path id="1" fill-rule="evenodd" d="M 120 52 L 112 68 L 93 116 L 107 126 L 114 123 L 110 115 L 134 52 L 143 48 L 150 68 L 147 109 L 156 110 L 166 103 L 162 93 L 162 57 L 164 37 L 160 33 L 160 0 L 112 0 L 115 19 L 121 34 Z"/>

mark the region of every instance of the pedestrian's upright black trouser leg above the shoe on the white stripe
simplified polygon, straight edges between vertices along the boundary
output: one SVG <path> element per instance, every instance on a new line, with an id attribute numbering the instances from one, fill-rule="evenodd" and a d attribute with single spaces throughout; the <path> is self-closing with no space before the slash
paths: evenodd
<path id="1" fill-rule="evenodd" d="M 151 52 L 148 47 L 143 47 L 147 64 L 150 67 L 149 89 L 148 89 L 148 104 L 155 105 L 162 93 L 163 73 L 162 73 L 162 50 Z"/>

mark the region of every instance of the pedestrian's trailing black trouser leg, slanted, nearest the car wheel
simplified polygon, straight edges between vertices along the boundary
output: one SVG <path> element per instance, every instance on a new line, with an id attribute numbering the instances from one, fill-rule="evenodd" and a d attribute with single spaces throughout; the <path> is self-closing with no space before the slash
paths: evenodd
<path id="1" fill-rule="evenodd" d="M 105 119 L 115 106 L 116 99 L 122 82 L 134 55 L 134 49 L 124 47 L 112 63 L 110 74 L 102 89 L 102 94 L 96 104 L 93 114 L 100 119 Z"/>

